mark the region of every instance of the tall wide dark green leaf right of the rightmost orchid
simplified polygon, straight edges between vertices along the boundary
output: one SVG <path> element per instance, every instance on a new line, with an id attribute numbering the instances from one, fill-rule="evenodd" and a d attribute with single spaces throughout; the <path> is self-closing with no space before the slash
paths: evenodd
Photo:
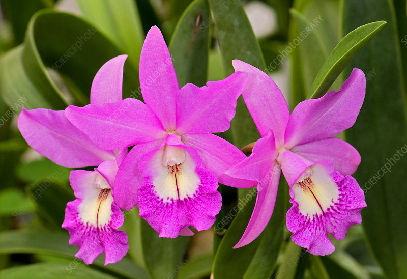
<path id="1" fill-rule="evenodd" d="M 345 69 L 345 76 L 353 67 L 366 75 L 364 104 L 346 137 L 362 157 L 355 178 L 365 192 L 362 225 L 370 247 L 388 278 L 406 278 L 407 123 L 394 7 L 386 0 L 360 0 L 344 1 L 342 10 L 344 33 L 368 21 L 388 22 Z"/>

